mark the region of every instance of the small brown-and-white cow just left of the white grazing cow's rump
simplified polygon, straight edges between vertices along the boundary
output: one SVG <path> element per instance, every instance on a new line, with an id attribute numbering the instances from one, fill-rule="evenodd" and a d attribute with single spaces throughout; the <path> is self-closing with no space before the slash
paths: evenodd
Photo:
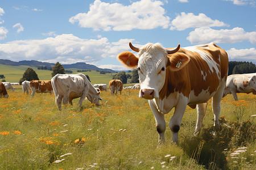
<path id="1" fill-rule="evenodd" d="M 37 93 L 50 93 L 52 94 L 52 83 L 51 80 L 31 80 L 31 97 L 34 97 L 35 92 Z"/>

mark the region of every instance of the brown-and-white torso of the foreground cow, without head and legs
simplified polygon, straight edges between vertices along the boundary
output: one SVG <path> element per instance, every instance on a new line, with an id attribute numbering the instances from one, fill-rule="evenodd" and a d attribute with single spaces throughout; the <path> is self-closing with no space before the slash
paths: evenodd
<path id="1" fill-rule="evenodd" d="M 228 54 L 213 43 L 180 48 L 177 53 L 187 54 L 190 61 L 179 71 L 166 70 L 166 82 L 159 92 L 160 98 L 164 99 L 176 91 L 189 97 L 191 103 L 206 102 L 214 95 L 221 80 L 226 80 Z"/>

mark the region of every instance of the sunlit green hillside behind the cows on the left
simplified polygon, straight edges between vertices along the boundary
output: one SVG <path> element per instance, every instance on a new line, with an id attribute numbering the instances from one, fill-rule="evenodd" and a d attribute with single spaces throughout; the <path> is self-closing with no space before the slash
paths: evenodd
<path id="1" fill-rule="evenodd" d="M 8 65 L 0 65 L 0 74 L 5 75 L 6 82 L 18 83 L 19 79 L 22 78 L 23 73 L 30 66 L 8 66 Z M 38 74 L 39 80 L 50 80 L 52 78 L 52 71 L 49 70 L 38 70 L 36 67 L 31 67 L 35 70 L 36 74 Z M 77 70 L 79 69 L 68 69 L 72 70 L 72 74 L 77 74 Z M 108 84 L 114 73 L 100 74 L 100 72 L 92 70 L 91 72 L 79 72 L 82 74 L 87 74 L 90 77 L 90 81 L 92 84 L 96 83 L 105 83 Z M 0 79 L 2 82 L 2 79 Z"/>

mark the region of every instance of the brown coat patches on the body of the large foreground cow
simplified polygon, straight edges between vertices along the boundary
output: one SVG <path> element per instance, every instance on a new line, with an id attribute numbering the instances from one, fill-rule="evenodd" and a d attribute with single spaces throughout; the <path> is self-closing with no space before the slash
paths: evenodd
<path id="1" fill-rule="evenodd" d="M 226 54 L 225 50 L 209 45 L 209 50 L 204 49 L 204 51 L 213 56 L 212 59 L 219 65 L 218 71 L 220 71 L 221 78 L 226 79 L 228 76 L 228 54 Z M 203 90 L 208 90 L 209 94 L 215 92 L 220 84 L 220 79 L 216 73 L 217 70 L 213 68 L 212 73 L 207 62 L 197 52 L 180 48 L 179 53 L 187 54 L 190 57 L 190 61 L 183 69 L 178 71 L 172 71 L 167 64 L 166 80 L 162 90 L 159 92 L 160 99 L 168 97 L 174 91 L 181 92 L 187 97 L 191 91 L 195 92 L 195 96 L 198 96 Z M 172 57 L 172 55 L 169 56 Z M 207 74 L 205 80 L 202 78 L 201 70 L 204 74 Z"/>

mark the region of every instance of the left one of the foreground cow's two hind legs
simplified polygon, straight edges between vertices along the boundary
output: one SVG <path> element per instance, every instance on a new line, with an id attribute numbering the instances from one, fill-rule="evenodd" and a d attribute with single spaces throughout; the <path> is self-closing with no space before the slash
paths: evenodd
<path id="1" fill-rule="evenodd" d="M 205 112 L 207 110 L 207 103 L 197 104 L 196 109 L 197 109 L 197 122 L 196 122 L 196 129 L 194 131 L 194 135 L 198 135 L 200 133 L 200 129 L 202 128 Z"/>

